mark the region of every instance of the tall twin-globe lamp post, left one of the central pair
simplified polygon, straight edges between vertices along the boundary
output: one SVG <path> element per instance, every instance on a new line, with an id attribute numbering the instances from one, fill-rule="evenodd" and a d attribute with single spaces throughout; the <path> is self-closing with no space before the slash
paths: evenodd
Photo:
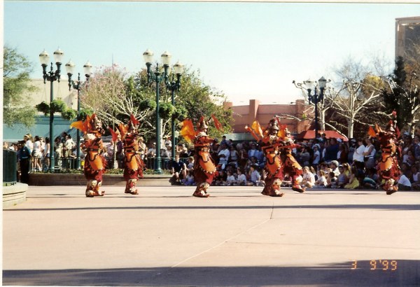
<path id="1" fill-rule="evenodd" d="M 156 83 L 156 156 L 155 156 L 155 174 L 162 174 L 162 168 L 160 165 L 160 116 L 159 116 L 159 86 L 162 79 L 167 78 L 169 63 L 171 62 L 172 55 L 169 52 L 164 52 L 161 55 L 162 64 L 164 67 L 163 73 L 160 73 L 159 64 L 156 63 L 155 71 L 151 71 L 151 66 L 153 62 L 153 52 L 149 49 L 143 53 L 144 62 L 146 62 L 147 66 L 147 78 L 148 83 Z M 161 76 L 162 75 L 162 76 Z"/>

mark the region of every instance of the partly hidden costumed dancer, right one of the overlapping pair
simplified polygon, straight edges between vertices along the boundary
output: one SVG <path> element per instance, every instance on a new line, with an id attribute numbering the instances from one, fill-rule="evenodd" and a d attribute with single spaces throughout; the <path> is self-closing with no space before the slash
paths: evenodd
<path id="1" fill-rule="evenodd" d="M 278 120 L 278 118 L 276 118 Z M 293 157 L 292 149 L 299 147 L 295 144 L 293 138 L 290 136 L 290 132 L 287 127 L 284 128 L 284 146 L 281 146 L 281 159 L 283 160 L 283 174 L 288 174 L 292 179 L 292 189 L 298 193 L 303 193 L 305 188 L 300 186 L 297 178 L 302 176 L 303 169 L 299 165 L 299 162 Z"/>

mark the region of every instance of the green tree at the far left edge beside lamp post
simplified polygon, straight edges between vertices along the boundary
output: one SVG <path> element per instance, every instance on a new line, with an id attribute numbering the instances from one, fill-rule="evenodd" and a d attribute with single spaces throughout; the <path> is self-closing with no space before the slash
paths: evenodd
<path id="1" fill-rule="evenodd" d="M 3 123 L 13 127 L 22 123 L 31 127 L 35 123 L 36 109 L 30 106 L 27 93 L 34 92 L 29 73 L 32 65 L 16 48 L 3 49 Z"/>

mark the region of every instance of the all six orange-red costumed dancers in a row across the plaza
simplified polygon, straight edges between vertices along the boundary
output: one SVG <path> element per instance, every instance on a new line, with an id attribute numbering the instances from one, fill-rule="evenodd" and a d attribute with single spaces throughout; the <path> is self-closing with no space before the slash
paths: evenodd
<path id="1" fill-rule="evenodd" d="M 393 116 L 396 117 L 395 112 Z M 211 116 L 218 130 L 221 130 L 221 124 Z M 120 124 L 116 131 L 109 127 L 113 141 L 118 137 L 123 141 L 124 148 L 124 179 L 127 181 L 125 193 L 138 195 L 136 188 L 137 181 L 143 178 L 144 162 L 141 160 L 139 152 L 140 135 L 137 131 L 139 121 L 130 116 L 127 125 Z M 103 196 L 104 191 L 100 191 L 102 186 L 102 175 L 106 169 L 106 160 L 102 155 L 105 151 L 102 143 L 102 123 L 96 114 L 87 116 L 85 121 L 79 120 L 71 124 L 83 132 L 85 141 L 80 146 L 85 151 L 84 174 L 87 179 L 86 197 Z M 202 116 L 197 123 L 195 130 L 192 120 L 186 119 L 182 122 L 181 135 L 193 144 L 195 148 L 193 175 L 197 188 L 193 196 L 209 197 L 207 189 L 211 185 L 216 174 L 216 165 L 211 158 L 211 143 L 214 138 L 207 134 L 207 121 Z M 265 186 L 262 195 L 272 197 L 282 197 L 281 182 L 284 176 L 290 176 L 292 180 L 292 189 L 298 193 L 304 193 L 305 188 L 300 186 L 299 178 L 302 175 L 302 167 L 292 155 L 292 149 L 299 147 L 294 144 L 290 132 L 286 125 L 281 125 L 279 118 L 274 117 L 269 121 L 267 128 L 262 130 L 258 121 L 254 121 L 251 127 L 246 126 L 246 130 L 258 141 L 261 151 L 265 155 Z M 385 130 L 381 130 L 376 125 L 376 131 L 370 127 L 368 132 L 370 137 L 379 139 L 381 148 L 381 159 L 378 165 L 378 174 L 381 181 L 381 187 L 387 195 L 391 195 L 398 190 L 398 180 L 400 179 L 400 167 L 398 166 L 398 155 L 400 154 L 396 142 L 400 137 L 400 132 L 396 126 L 395 120 L 390 120 Z"/>

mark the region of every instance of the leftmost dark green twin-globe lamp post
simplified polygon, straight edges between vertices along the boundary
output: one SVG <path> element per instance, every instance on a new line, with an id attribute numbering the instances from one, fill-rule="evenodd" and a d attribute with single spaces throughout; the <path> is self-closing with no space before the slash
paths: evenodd
<path id="1" fill-rule="evenodd" d="M 47 72 L 47 66 L 50 62 L 50 55 L 48 52 L 43 50 L 41 54 L 39 54 L 39 61 L 41 62 L 42 72 L 43 72 L 43 79 L 44 84 L 48 80 L 50 82 L 50 171 L 54 172 L 55 167 L 55 159 L 54 159 L 54 111 L 52 110 L 51 104 L 54 100 L 54 93 L 52 91 L 52 82 L 57 80 L 59 82 L 60 77 L 60 66 L 62 64 L 62 57 L 64 52 L 59 48 L 54 52 L 54 59 L 55 64 L 57 65 L 57 70 L 53 71 L 52 69 L 52 62 L 51 62 L 51 70 Z"/>

